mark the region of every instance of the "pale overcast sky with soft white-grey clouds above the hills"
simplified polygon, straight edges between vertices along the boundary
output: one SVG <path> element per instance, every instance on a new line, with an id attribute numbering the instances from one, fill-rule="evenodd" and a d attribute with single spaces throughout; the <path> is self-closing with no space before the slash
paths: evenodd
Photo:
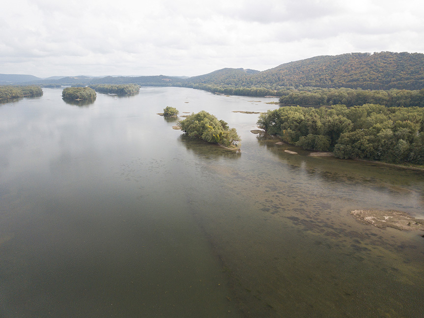
<path id="1" fill-rule="evenodd" d="M 10 0 L 0 73 L 196 76 L 321 55 L 424 53 L 422 0 Z"/>

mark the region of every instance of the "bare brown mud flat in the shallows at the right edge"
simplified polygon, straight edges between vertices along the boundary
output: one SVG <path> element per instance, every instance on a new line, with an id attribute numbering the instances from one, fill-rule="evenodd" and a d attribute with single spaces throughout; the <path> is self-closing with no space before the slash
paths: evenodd
<path id="1" fill-rule="evenodd" d="M 424 220 L 416 219 L 409 214 L 396 210 L 354 210 L 351 211 L 357 221 L 385 229 L 424 231 Z"/>

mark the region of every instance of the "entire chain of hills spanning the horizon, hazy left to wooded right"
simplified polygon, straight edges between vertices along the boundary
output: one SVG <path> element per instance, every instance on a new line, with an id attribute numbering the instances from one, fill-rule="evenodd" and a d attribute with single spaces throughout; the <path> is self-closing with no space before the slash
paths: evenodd
<path id="1" fill-rule="evenodd" d="M 68 76 L 41 80 L 32 75 L 0 74 L 0 83 L 62 86 L 91 84 L 183 86 L 228 94 L 259 95 L 273 92 L 275 94 L 284 87 L 414 90 L 424 88 L 424 54 L 406 52 L 348 53 L 302 59 L 262 72 L 243 68 L 223 68 L 190 78 L 164 75 Z M 234 89 L 225 89 L 228 87 Z M 255 89 L 261 89 L 261 91 Z"/>

